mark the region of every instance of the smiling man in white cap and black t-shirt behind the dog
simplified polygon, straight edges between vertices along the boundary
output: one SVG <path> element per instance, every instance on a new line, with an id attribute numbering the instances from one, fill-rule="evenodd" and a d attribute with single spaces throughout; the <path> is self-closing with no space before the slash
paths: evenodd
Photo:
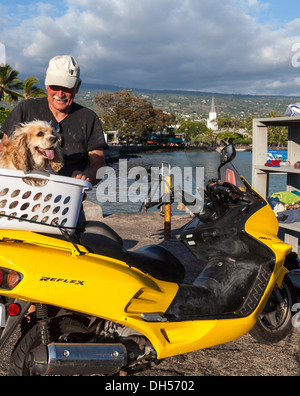
<path id="1" fill-rule="evenodd" d="M 107 144 L 98 116 L 74 102 L 81 85 L 80 67 L 73 56 L 55 56 L 45 76 L 47 97 L 20 102 L 2 125 L 3 140 L 16 126 L 35 119 L 51 122 L 62 137 L 64 167 L 59 174 L 90 181 L 105 165 Z"/>

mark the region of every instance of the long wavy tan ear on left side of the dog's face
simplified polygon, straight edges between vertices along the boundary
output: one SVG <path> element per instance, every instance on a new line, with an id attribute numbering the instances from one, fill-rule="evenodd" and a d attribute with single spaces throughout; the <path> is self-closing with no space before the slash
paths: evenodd
<path id="1" fill-rule="evenodd" d="M 13 148 L 11 156 L 14 167 L 25 172 L 31 170 L 27 135 L 25 133 L 16 133 L 12 136 L 10 142 Z"/>

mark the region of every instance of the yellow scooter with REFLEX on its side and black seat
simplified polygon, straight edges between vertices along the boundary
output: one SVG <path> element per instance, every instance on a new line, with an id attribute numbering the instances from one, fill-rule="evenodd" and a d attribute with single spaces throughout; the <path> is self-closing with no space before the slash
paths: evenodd
<path id="1" fill-rule="evenodd" d="M 208 202 L 181 236 L 207 260 L 192 285 L 171 252 L 126 251 L 102 223 L 86 222 L 72 235 L 60 227 L 61 236 L 1 230 L 0 350 L 20 323 L 23 330 L 10 375 L 112 375 L 255 326 L 263 337 L 264 310 L 282 290 L 291 247 L 277 238 L 271 207 L 230 169 L 234 155 L 232 145 L 223 149 Z"/>

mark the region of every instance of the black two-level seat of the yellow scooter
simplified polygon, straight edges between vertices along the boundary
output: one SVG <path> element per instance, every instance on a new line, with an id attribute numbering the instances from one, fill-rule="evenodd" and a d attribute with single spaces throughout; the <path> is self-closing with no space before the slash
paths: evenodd
<path id="1" fill-rule="evenodd" d="M 118 238 L 116 241 L 106 235 L 89 232 L 80 233 L 79 241 L 91 253 L 123 261 L 129 267 L 137 268 L 156 279 L 182 283 L 185 277 L 181 262 L 162 246 L 151 245 L 128 251 L 119 243 Z"/>

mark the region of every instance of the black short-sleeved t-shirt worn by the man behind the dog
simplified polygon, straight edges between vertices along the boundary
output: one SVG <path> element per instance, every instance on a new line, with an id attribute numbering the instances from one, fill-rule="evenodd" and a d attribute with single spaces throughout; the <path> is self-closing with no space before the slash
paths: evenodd
<path id="1" fill-rule="evenodd" d="M 96 113 L 73 102 L 70 114 L 57 123 L 46 97 L 20 102 L 7 117 L 1 130 L 9 137 L 18 124 L 34 120 L 58 125 L 64 155 L 64 167 L 59 172 L 61 175 L 71 176 L 74 170 L 84 171 L 88 164 L 88 152 L 107 148 L 102 125 Z"/>

